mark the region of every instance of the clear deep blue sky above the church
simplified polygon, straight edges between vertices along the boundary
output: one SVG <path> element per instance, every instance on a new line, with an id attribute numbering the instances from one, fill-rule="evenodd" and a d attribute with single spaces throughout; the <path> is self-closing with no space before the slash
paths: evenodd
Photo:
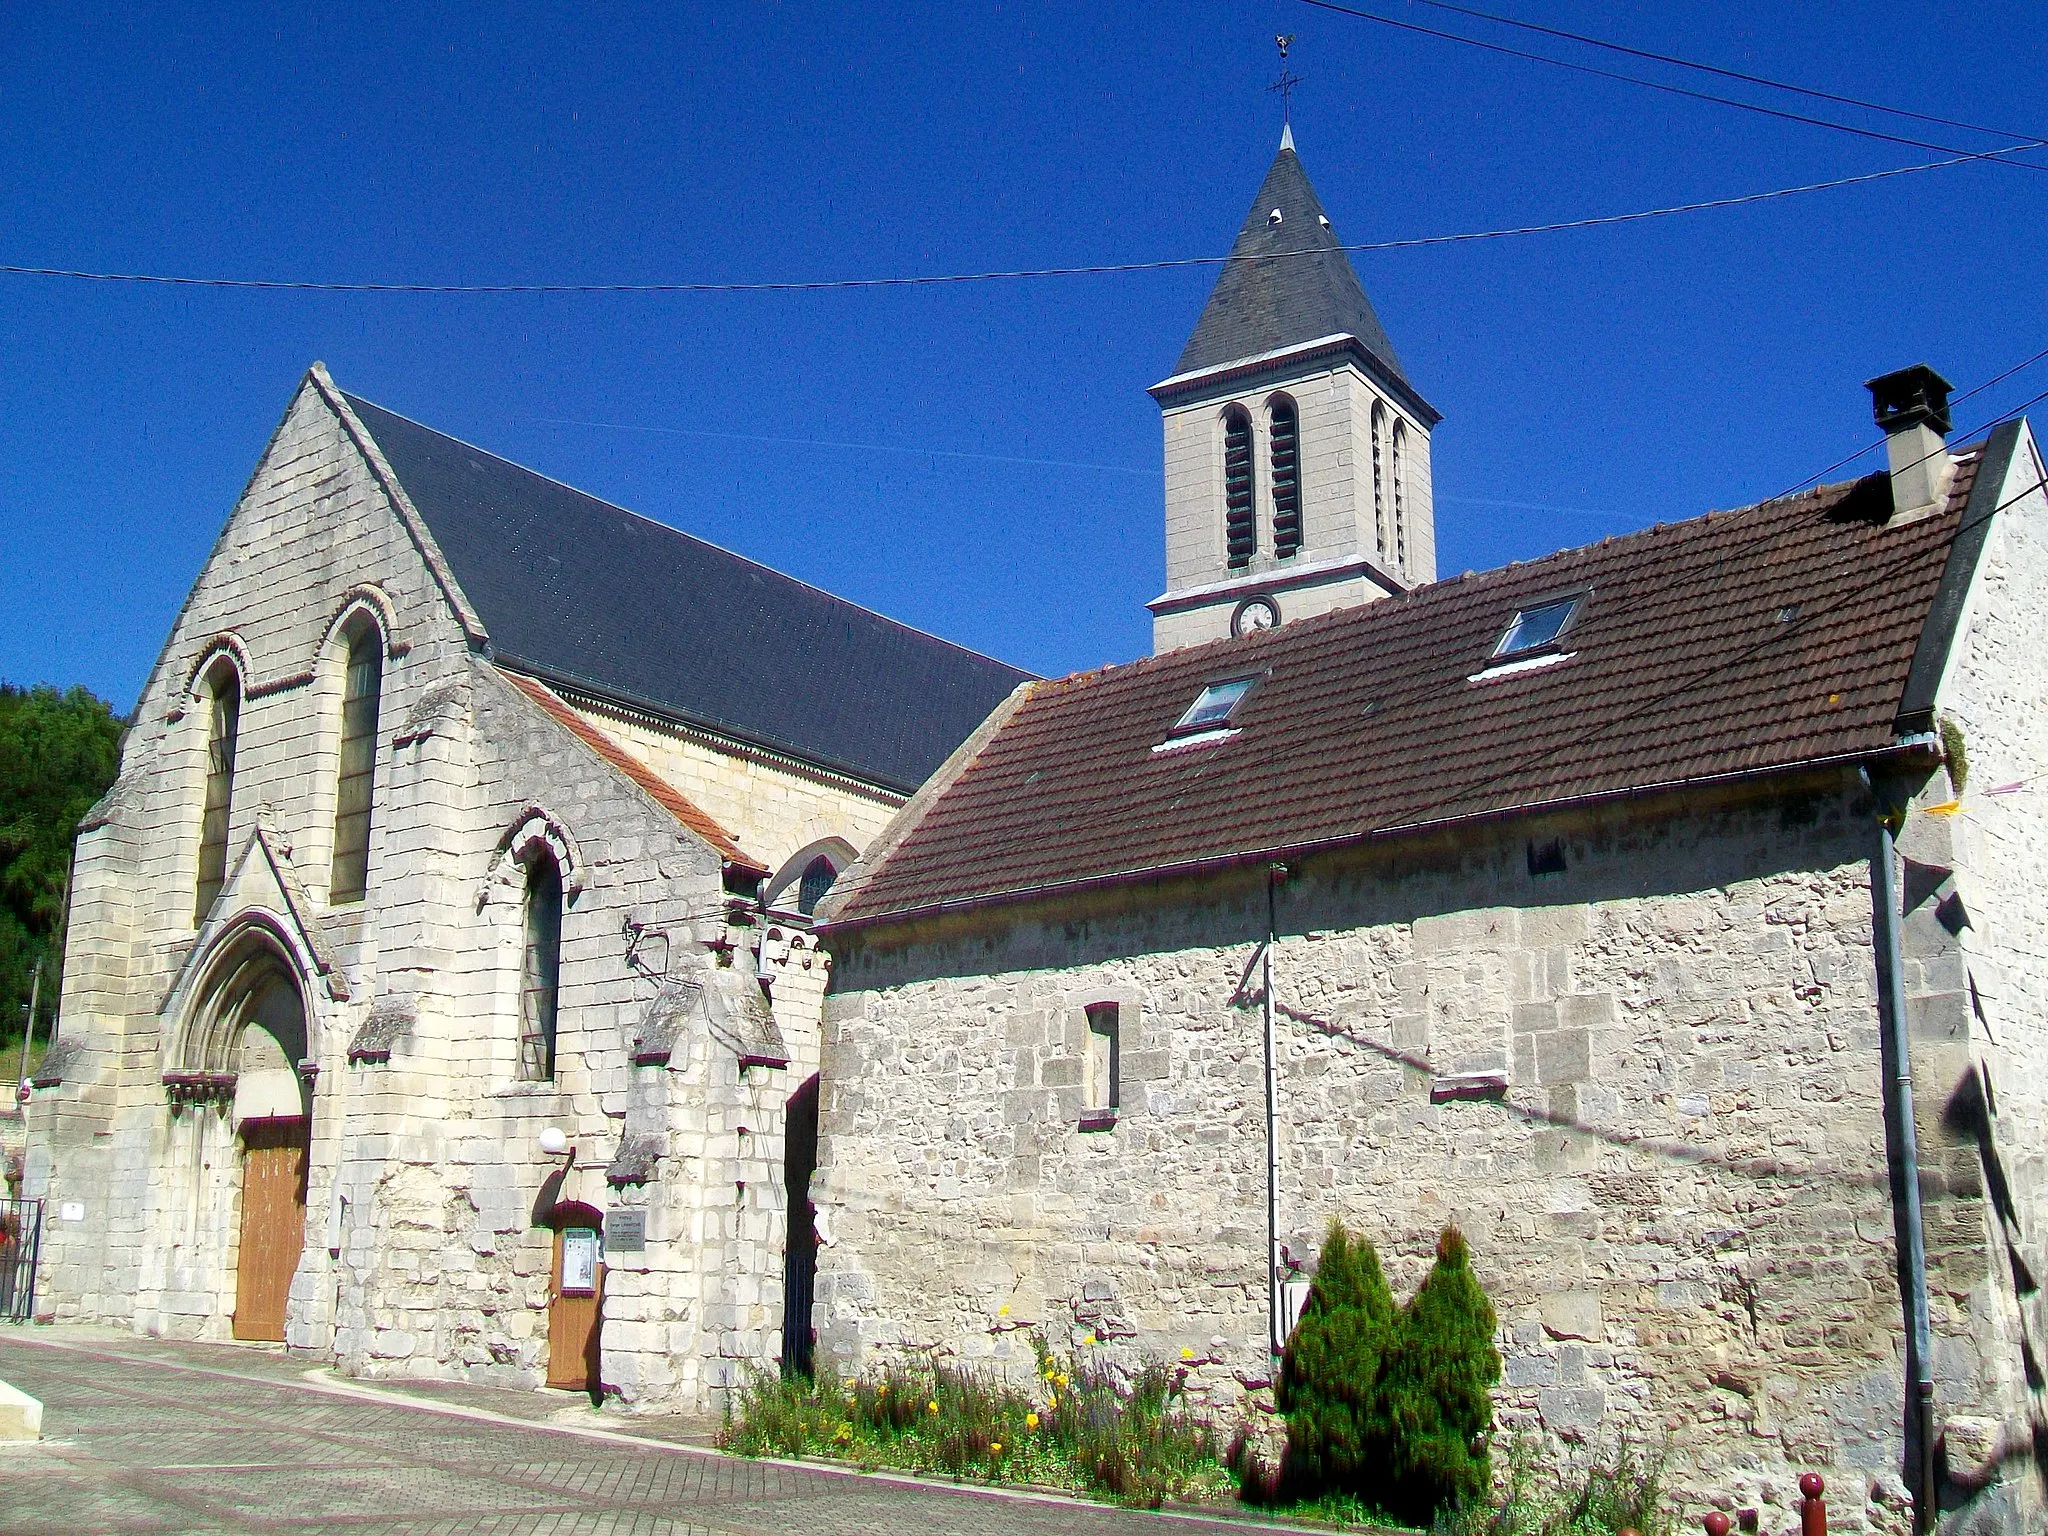
<path id="1" fill-rule="evenodd" d="M 2048 33 L 2023 4 L 1497 6 L 2048 137 Z M 1298 0 L 23 0 L 0 8 L 0 262 L 653 283 L 1217 256 L 1278 137 L 1276 31 L 1307 76 L 1303 162 L 1356 242 L 1935 158 Z M 1442 571 L 1769 496 L 1874 436 L 1866 377 L 1927 360 L 1968 387 L 2048 346 L 2044 229 L 2048 172 L 1972 164 L 1356 258 L 1446 418 Z M 1141 655 L 1161 586 L 1145 385 L 1212 276 L 698 297 L 0 276 L 0 678 L 133 705 L 313 358 L 354 393 L 1020 666 Z M 2048 365 L 1968 401 L 1958 428 L 2044 387 Z"/>

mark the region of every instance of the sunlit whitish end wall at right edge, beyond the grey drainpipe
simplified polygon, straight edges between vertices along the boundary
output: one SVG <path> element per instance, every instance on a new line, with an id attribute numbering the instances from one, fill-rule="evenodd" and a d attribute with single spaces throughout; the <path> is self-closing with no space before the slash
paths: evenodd
<path id="1" fill-rule="evenodd" d="M 2038 1524 L 2038 1386 L 2048 1358 L 2048 502 L 2021 432 L 1939 694 L 1966 778 L 1921 797 L 1901 836 L 1919 1124 L 1937 1149 L 1929 1200 L 1933 1305 L 1968 1331 L 1937 1354 L 1950 1499 Z"/>

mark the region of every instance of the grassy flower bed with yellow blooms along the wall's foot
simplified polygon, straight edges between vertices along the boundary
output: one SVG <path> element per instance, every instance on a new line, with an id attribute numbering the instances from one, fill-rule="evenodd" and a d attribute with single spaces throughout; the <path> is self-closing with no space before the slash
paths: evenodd
<path id="1" fill-rule="evenodd" d="M 1139 1507 L 1233 1491 L 1210 1425 L 1182 1405 L 1184 1372 L 1153 1364 L 1130 1376 L 1034 1343 L 1032 1391 L 944 1362 L 895 1362 L 854 1380 L 756 1372 L 719 1444 L 743 1456 L 1036 1483 Z"/>

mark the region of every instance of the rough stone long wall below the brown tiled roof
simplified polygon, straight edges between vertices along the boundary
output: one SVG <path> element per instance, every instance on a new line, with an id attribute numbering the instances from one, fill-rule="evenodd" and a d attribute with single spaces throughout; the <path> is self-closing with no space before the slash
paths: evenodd
<path id="1" fill-rule="evenodd" d="M 1821 1468 L 1837 1524 L 1896 1528 L 1870 807 L 1806 791 L 1311 860 L 1280 895 L 1280 1239 L 1313 1268 L 1341 1217 L 1407 1294 L 1454 1221 L 1503 1427 L 1665 1440 L 1681 1497 L 1769 1528 Z M 1532 877 L 1552 838 L 1567 872 Z M 1219 1405 L 1262 1382 L 1262 932 L 1264 889 L 1217 879 L 831 940 L 827 1358 L 1016 1368 L 1034 1325 L 1188 1352 Z M 1090 1001 L 1122 1014 L 1100 1133 Z M 1505 1092 L 1434 1102 L 1460 1073 Z"/>

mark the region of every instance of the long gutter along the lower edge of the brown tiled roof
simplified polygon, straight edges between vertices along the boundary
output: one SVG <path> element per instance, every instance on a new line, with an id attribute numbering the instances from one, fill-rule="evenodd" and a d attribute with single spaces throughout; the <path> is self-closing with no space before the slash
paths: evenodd
<path id="1" fill-rule="evenodd" d="M 1294 862 L 1298 858 L 1309 858 L 1313 854 L 1327 854 L 1339 848 L 1356 848 L 1370 842 L 1407 838 L 1421 831 L 1444 831 L 1450 827 L 1479 825 L 1485 821 L 1507 821 L 1520 815 L 1569 811 L 1587 805 L 1610 805 L 1616 801 L 1640 799 L 1645 795 L 1712 788 L 1716 784 L 1733 784 L 1745 778 L 1776 778 L 1782 774 L 1815 772 L 1819 768 L 1882 764 L 1901 758 L 1933 756 L 1937 750 L 1939 748 L 1935 743 L 1935 737 L 1909 735 L 1884 748 L 1833 752 L 1821 758 L 1800 758 L 1796 762 L 1774 764 L 1769 768 L 1731 768 L 1726 772 L 1702 774 L 1698 778 L 1667 778 L 1653 784 L 1630 784 L 1628 788 L 1597 791 L 1593 795 L 1561 795 L 1559 799 L 1552 801 L 1528 801 L 1522 805 L 1505 805 L 1489 811 L 1466 811 L 1462 815 L 1391 823 L 1382 827 L 1368 827 L 1366 831 L 1346 831 L 1335 838 L 1319 838 L 1315 842 L 1272 844 L 1268 848 L 1210 854 L 1206 858 L 1184 858 L 1171 864 L 1147 864 L 1139 868 L 1108 870 L 1104 874 L 1077 874 L 1065 881 L 1020 885 L 1010 891 L 987 891 L 981 895 L 950 897 L 946 901 L 932 901 L 915 907 L 895 907 L 889 911 L 864 913 L 856 918 L 831 918 L 829 922 L 815 924 L 813 932 L 819 936 L 850 934 L 860 928 L 879 928 L 883 924 L 909 922 L 913 918 L 942 918 L 956 911 L 975 911 L 979 907 L 999 907 L 999 905 L 1014 905 L 1020 901 L 1038 901 L 1044 897 L 1079 895 L 1083 891 L 1100 891 L 1104 887 L 1130 885 L 1135 881 L 1165 881 L 1188 874 L 1217 874 L 1229 868 L 1239 868 L 1245 864 L 1270 864 L 1274 860 Z"/>

